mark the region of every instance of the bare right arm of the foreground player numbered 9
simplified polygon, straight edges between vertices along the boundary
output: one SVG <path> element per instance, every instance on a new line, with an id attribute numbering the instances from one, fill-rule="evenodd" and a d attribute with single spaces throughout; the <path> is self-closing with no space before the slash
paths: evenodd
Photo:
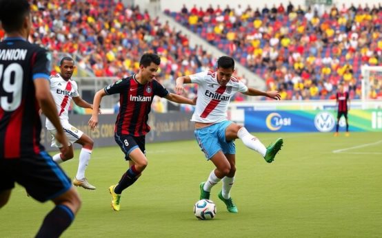
<path id="1" fill-rule="evenodd" d="M 59 116 L 57 115 L 56 105 L 52 94 L 50 94 L 50 85 L 49 81 L 45 78 L 36 78 L 34 81 L 34 87 L 36 88 L 36 98 L 41 107 L 41 111 L 46 115 L 46 117 L 52 122 L 54 127 L 57 129 L 57 134 L 55 138 L 58 142 L 63 145 L 63 153 L 68 151 L 68 141 L 66 139 L 65 133 L 61 126 Z"/>

